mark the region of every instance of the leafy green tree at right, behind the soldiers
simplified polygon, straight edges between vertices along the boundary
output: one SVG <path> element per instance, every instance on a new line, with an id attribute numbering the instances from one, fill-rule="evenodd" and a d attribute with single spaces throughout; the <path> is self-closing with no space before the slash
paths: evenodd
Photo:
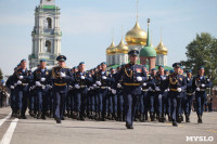
<path id="1" fill-rule="evenodd" d="M 214 84 L 217 84 L 217 39 L 210 34 L 202 32 L 187 45 L 187 61 L 182 65 L 197 74 L 199 67 L 205 67 L 205 75 L 209 76 Z"/>

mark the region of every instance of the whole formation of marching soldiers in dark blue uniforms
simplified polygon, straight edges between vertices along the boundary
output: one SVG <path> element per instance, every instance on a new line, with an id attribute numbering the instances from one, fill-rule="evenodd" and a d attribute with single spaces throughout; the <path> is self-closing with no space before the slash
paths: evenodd
<path id="1" fill-rule="evenodd" d="M 11 90 L 12 117 L 27 119 L 26 113 L 37 119 L 54 118 L 61 123 L 65 117 L 77 120 L 126 121 L 133 129 L 133 121 L 171 121 L 173 126 L 190 122 L 193 99 L 196 101 L 197 122 L 202 123 L 206 89 L 212 81 L 204 76 L 204 67 L 197 74 L 183 71 L 180 63 L 174 70 L 150 71 L 137 64 L 139 51 L 128 52 L 129 63 L 117 68 L 106 68 L 102 62 L 86 70 L 85 62 L 66 67 L 66 56 L 56 57 L 58 66 L 47 68 L 40 60 L 36 70 L 28 70 L 22 60 L 7 87 Z"/>

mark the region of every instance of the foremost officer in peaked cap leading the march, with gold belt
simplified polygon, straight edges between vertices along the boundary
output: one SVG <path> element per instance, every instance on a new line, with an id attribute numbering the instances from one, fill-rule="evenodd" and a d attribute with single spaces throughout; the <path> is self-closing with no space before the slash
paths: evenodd
<path id="1" fill-rule="evenodd" d="M 142 65 L 138 65 L 139 51 L 131 50 L 128 55 L 130 63 L 123 65 L 120 71 L 116 76 L 116 80 L 123 76 L 124 82 L 124 95 L 126 99 L 126 127 L 127 129 L 133 129 L 133 119 L 136 113 L 136 106 L 141 95 L 141 84 L 146 80 L 146 73 Z"/>

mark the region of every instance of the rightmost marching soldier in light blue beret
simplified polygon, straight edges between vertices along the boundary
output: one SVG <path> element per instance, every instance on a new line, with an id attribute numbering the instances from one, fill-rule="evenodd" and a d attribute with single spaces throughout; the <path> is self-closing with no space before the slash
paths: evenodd
<path id="1" fill-rule="evenodd" d="M 206 88 L 212 87 L 210 79 L 204 76 L 203 66 L 199 68 L 199 74 L 193 78 L 193 89 L 195 90 L 197 122 L 202 123 L 202 115 L 204 112 L 204 103 L 206 101 Z"/>

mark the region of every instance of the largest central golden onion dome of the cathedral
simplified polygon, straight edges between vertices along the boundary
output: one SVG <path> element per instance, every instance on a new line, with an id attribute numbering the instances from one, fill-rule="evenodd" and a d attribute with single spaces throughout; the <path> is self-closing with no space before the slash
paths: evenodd
<path id="1" fill-rule="evenodd" d="M 146 31 L 142 30 L 137 22 L 135 27 L 126 34 L 125 41 L 129 45 L 145 45 Z"/>

